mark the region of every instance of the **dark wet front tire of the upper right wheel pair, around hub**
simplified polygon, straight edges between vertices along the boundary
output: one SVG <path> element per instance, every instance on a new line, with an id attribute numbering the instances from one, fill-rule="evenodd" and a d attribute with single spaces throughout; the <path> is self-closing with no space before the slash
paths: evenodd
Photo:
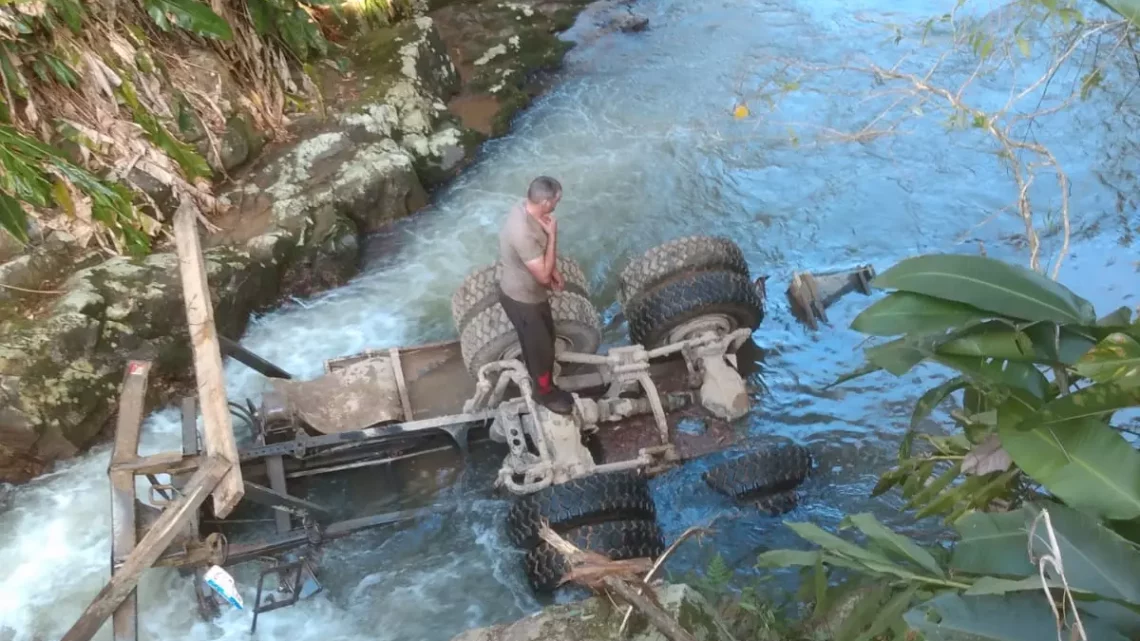
<path id="1" fill-rule="evenodd" d="M 702 330 L 756 330 L 764 301 L 756 285 L 735 271 L 682 274 L 640 293 L 625 306 L 629 340 L 649 349 Z"/>

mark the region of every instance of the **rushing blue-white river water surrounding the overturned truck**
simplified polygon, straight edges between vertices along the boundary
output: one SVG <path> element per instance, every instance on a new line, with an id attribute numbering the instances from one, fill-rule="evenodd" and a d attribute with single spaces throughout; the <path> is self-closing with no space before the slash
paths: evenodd
<path id="1" fill-rule="evenodd" d="M 611 322 L 611 342 L 624 340 L 612 305 L 617 270 L 634 252 L 685 234 L 736 238 L 754 274 L 771 275 L 768 291 L 776 293 L 793 269 L 870 262 L 881 270 L 920 251 L 972 252 L 983 245 L 991 255 L 1024 261 L 1019 221 L 993 216 L 1015 194 L 984 138 L 947 133 L 931 117 L 888 139 L 822 144 L 813 140 L 813 125 L 862 125 L 889 97 L 860 102 L 805 92 L 774 113 L 756 97 L 758 76 L 774 66 L 772 56 L 819 64 L 869 56 L 889 65 L 909 42 L 894 43 L 894 25 L 940 14 L 953 2 L 897 5 L 641 0 L 637 10 L 651 21 L 645 33 L 595 38 L 579 25 L 579 33 L 591 35 L 588 43 L 571 52 L 557 88 L 510 137 L 488 144 L 479 163 L 429 210 L 375 238 L 367 268 L 351 284 L 255 319 L 243 343 L 296 375 L 312 376 L 325 358 L 453 336 L 451 292 L 473 266 L 494 259 L 498 218 L 536 172 L 565 186 L 561 248 L 591 278 L 594 301 Z M 935 30 L 931 41 L 915 54 L 917 70 L 945 50 L 945 33 Z M 952 83 L 969 71 L 951 60 L 938 78 Z M 1029 78 L 1023 73 L 1019 79 Z M 979 82 L 968 96 L 1000 104 L 1010 80 Z M 1061 81 L 1072 87 L 1074 74 Z M 852 74 L 829 88 L 871 89 Z M 754 115 L 736 121 L 731 112 L 741 95 Z M 1134 124 L 1131 100 L 1118 106 L 1096 98 L 1032 132 L 1053 147 L 1073 179 L 1075 242 L 1062 279 L 1102 311 L 1137 305 L 1132 235 L 1140 220 L 1127 202 L 1134 184 L 1122 170 L 1123 159 L 1134 157 L 1127 149 L 1135 140 L 1121 133 L 1137 128 L 1119 125 L 1121 119 Z M 1104 123 L 1117 108 L 1110 133 Z M 1052 202 L 1056 189 L 1043 178 L 1034 194 Z M 1047 249 L 1056 241 L 1047 238 Z M 846 513 L 872 510 L 914 529 L 919 526 L 901 518 L 891 501 L 866 495 L 893 457 L 914 399 L 944 374 L 920 368 L 903 380 L 872 376 L 820 391 L 860 364 L 861 336 L 846 326 L 866 303 L 862 297 L 847 299 L 830 310 L 831 327 L 809 332 L 779 297 L 769 301 L 755 334 L 766 352 L 755 381 L 756 409 L 740 429 L 754 443 L 790 439 L 815 452 L 815 477 L 787 518 L 831 526 Z M 233 363 L 227 374 L 234 396 L 256 397 L 262 383 L 256 374 Z M 144 453 L 178 447 L 173 409 L 149 416 L 145 429 Z M 0 641 L 58 638 L 106 581 L 107 454 L 106 447 L 96 448 L 9 492 L 0 513 Z M 448 469 L 455 461 L 447 455 L 392 472 L 360 472 L 361 484 L 398 484 L 402 504 L 458 508 L 327 546 L 325 591 L 263 616 L 256 636 L 446 640 L 469 626 L 536 610 L 540 603 L 502 530 L 506 503 L 488 492 L 497 456 L 477 451 L 463 484 L 453 482 Z M 667 537 L 730 508 L 699 480 L 717 460 L 654 481 Z M 374 502 L 394 504 L 381 490 Z M 757 552 L 797 544 L 779 520 L 755 513 L 724 524 L 712 542 L 742 578 Z M 701 567 L 711 552 L 709 545 L 686 549 L 669 569 Z M 247 602 L 254 587 L 250 571 L 237 571 Z M 246 612 L 198 620 L 189 583 L 177 573 L 148 574 L 140 601 L 144 639 L 247 638 Z M 109 639 L 109 625 L 100 638 Z"/>

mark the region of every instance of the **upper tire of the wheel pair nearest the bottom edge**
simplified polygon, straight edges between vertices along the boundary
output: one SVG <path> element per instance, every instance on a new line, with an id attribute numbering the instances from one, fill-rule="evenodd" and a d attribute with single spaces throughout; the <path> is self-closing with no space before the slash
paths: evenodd
<path id="1" fill-rule="evenodd" d="M 649 482 L 636 472 L 593 474 L 522 496 L 506 514 L 511 543 L 538 544 L 543 521 L 555 532 L 619 519 L 657 519 Z"/>

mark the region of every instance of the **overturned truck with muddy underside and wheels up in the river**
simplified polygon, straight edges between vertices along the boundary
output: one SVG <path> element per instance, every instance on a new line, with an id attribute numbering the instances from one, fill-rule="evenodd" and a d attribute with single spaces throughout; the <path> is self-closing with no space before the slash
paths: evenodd
<path id="1" fill-rule="evenodd" d="M 555 381 L 573 395 L 569 415 L 549 412 L 531 397 L 514 327 L 497 302 L 498 265 L 473 271 L 455 292 L 458 340 L 335 358 L 314 380 L 295 380 L 220 339 L 221 352 L 269 380 L 258 405 L 226 399 L 230 417 L 250 432 L 237 448 L 242 502 L 233 513 L 214 513 L 202 497 L 186 502 L 189 493 L 210 492 L 198 481 L 207 462 L 218 460 L 207 456 L 194 398 L 182 404 L 181 451 L 137 455 L 147 365 L 132 362 L 109 470 L 113 575 L 150 565 L 181 568 L 195 575 L 202 611 L 210 616 L 222 601 L 204 586 L 207 569 L 266 561 L 250 607 L 255 628 L 260 614 L 319 590 L 314 552 L 321 543 L 439 510 L 345 514 L 310 495 L 314 478 L 453 448 L 466 452 L 475 439 L 503 451 L 495 486 L 513 496 L 506 530 L 527 550 L 524 571 L 536 590 L 556 587 L 565 571 L 561 557 L 538 536 L 544 522 L 613 559 L 659 555 L 665 545 L 648 479 L 709 451 L 707 443 L 678 440 L 678 413 L 723 421 L 748 413 L 738 355 L 763 319 L 765 279 L 752 279 L 741 250 L 727 238 L 691 236 L 653 248 L 618 277 L 629 344 L 600 352 L 601 315 L 587 279 L 568 258 L 559 259 L 559 269 L 565 287 L 552 297 Z M 865 292 L 870 275 L 870 268 L 822 277 L 797 274 L 789 300 L 814 325 L 837 297 Z M 616 432 L 606 427 L 618 423 L 620 438 L 609 438 Z M 806 469 L 797 465 L 790 477 L 801 480 Z M 215 470 L 211 482 L 222 473 Z M 170 482 L 158 482 L 158 474 L 169 474 Z M 149 479 L 148 502 L 135 496 L 136 477 Z M 732 492 L 731 479 L 719 482 Z M 276 532 L 242 525 L 244 511 L 259 509 L 271 510 Z M 174 510 L 186 514 L 171 516 Z M 163 529 L 155 534 L 156 528 Z M 158 546 L 145 562 L 138 560 L 144 541 Z M 135 639 L 133 598 L 108 602 L 115 639 Z M 107 615 L 96 605 L 84 616 Z"/>

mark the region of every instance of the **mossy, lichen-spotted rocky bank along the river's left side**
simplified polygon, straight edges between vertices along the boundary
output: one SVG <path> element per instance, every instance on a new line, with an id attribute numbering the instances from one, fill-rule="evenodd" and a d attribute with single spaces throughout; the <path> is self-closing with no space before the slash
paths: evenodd
<path id="1" fill-rule="evenodd" d="M 223 157 L 245 165 L 206 235 L 219 332 L 239 336 L 251 313 L 350 278 L 363 236 L 425 205 L 480 141 L 507 131 L 570 48 L 556 34 L 587 3 L 433 0 L 358 38 L 351 74 L 321 79 L 327 108 L 300 119 L 292 144 L 258 156 L 256 132 L 235 127 L 246 132 Z M 115 412 L 128 358 L 154 360 L 152 406 L 192 375 L 172 248 L 91 265 L 68 240 L 55 232 L 0 257 L 10 259 L 0 265 L 0 481 L 91 445 Z"/>

